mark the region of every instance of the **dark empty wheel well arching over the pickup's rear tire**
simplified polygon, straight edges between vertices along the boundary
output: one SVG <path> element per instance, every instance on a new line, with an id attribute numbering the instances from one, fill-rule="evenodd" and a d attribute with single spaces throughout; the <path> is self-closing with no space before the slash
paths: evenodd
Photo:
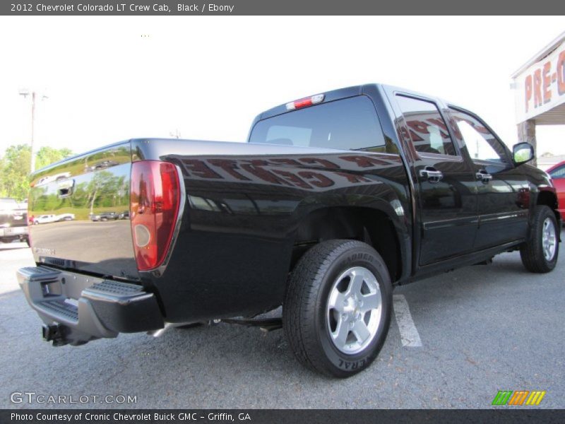
<path id="1" fill-rule="evenodd" d="M 394 224 L 386 213 L 371 208 L 333 207 L 310 213 L 297 228 L 290 271 L 310 247 L 336 239 L 371 245 L 385 261 L 391 280 L 400 278 L 402 261 Z"/>

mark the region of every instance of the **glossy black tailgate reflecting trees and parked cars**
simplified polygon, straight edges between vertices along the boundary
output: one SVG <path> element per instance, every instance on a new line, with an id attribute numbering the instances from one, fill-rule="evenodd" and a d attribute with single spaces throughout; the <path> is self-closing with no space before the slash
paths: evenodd
<path id="1" fill-rule="evenodd" d="M 28 206 L 35 261 L 138 279 L 129 222 L 130 174 L 129 141 L 36 172 Z"/>

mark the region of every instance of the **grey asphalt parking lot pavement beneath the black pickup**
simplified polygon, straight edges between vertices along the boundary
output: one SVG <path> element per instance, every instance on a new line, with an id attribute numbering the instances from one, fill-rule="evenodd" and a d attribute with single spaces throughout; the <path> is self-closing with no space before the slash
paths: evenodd
<path id="1" fill-rule="evenodd" d="M 534 408 L 565 408 L 563 258 L 533 274 L 506 253 L 397 288 L 420 343 L 400 334 L 403 310 L 375 363 L 345 380 L 304 370 L 282 330 L 223 323 L 53 348 L 18 288 L 21 266 L 30 249 L 0 245 L 0 408 L 489 408 L 499 390 L 546 391 Z"/>

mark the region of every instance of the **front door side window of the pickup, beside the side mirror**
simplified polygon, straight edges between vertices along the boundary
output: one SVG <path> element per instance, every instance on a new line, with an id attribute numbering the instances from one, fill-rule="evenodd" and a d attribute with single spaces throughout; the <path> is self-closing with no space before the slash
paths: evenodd
<path id="1" fill-rule="evenodd" d="M 451 109 L 456 124 L 456 137 L 463 140 L 473 160 L 507 163 L 506 151 L 500 141 L 475 117 Z"/>

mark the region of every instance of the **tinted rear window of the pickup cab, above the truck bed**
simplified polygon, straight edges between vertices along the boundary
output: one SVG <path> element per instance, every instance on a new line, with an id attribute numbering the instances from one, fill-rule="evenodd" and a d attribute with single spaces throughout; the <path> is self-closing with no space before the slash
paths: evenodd
<path id="1" fill-rule="evenodd" d="M 385 145 L 374 105 L 362 95 L 263 119 L 249 142 L 343 150 Z"/>

